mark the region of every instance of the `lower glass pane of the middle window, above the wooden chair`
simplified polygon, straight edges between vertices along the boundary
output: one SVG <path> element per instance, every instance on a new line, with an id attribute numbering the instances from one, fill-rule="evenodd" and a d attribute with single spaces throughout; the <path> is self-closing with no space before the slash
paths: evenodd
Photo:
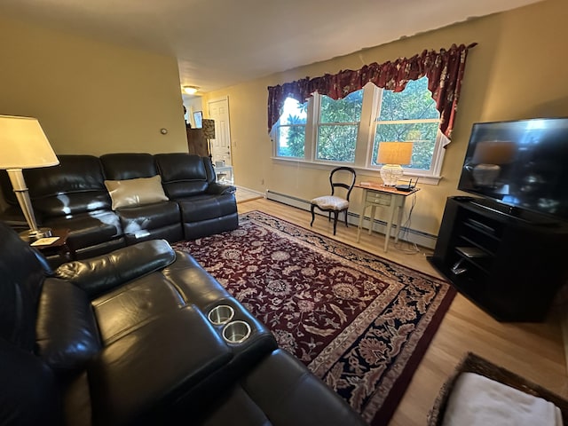
<path id="1" fill-rule="evenodd" d="M 355 162 L 355 145 L 359 126 L 320 125 L 318 132 L 318 160 Z"/>

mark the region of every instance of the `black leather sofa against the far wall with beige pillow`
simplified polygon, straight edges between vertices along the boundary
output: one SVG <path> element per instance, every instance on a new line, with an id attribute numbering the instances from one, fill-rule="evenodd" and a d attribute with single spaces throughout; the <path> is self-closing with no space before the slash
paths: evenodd
<path id="1" fill-rule="evenodd" d="M 121 153 L 58 158 L 58 166 L 24 170 L 24 178 L 38 225 L 70 229 L 67 245 L 77 259 L 151 239 L 193 240 L 239 225 L 235 188 L 217 184 L 209 157 Z M 160 201 L 113 209 L 106 181 L 156 176 L 162 182 Z M 25 225 L 4 170 L 0 187 L 9 204 L 0 219 Z"/>

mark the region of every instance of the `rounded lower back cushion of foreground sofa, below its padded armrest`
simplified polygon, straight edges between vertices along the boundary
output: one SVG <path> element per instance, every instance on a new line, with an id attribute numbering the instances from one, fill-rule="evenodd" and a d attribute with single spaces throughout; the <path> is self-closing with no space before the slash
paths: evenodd
<path id="1" fill-rule="evenodd" d="M 80 371 L 101 348 L 87 294 L 64 280 L 47 279 L 37 309 L 37 353 L 62 373 Z"/>

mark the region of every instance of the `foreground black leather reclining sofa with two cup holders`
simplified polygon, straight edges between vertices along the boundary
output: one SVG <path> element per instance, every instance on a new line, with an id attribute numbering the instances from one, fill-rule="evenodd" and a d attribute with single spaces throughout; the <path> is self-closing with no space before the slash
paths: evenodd
<path id="1" fill-rule="evenodd" d="M 209 320 L 217 305 L 244 342 Z M 50 272 L 0 223 L 0 383 L 3 425 L 365 424 L 163 240 Z"/>

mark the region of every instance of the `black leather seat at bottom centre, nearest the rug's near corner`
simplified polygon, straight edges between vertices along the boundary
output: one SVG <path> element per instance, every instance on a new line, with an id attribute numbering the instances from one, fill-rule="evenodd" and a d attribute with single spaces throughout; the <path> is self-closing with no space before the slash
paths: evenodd
<path id="1" fill-rule="evenodd" d="M 296 358 L 276 350 L 201 409 L 202 426 L 364 426 L 351 407 Z"/>

